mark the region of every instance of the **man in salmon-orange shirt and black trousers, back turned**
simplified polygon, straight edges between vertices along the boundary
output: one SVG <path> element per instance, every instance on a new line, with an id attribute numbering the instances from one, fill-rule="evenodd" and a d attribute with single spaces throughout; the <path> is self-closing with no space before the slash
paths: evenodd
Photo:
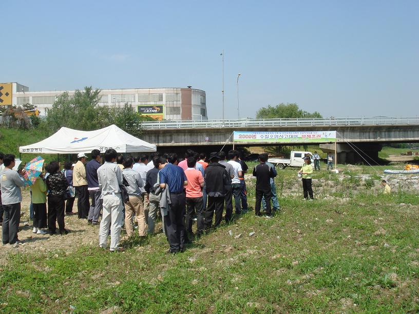
<path id="1" fill-rule="evenodd" d="M 201 171 L 195 169 L 196 159 L 188 157 L 187 169 L 185 175 L 187 178 L 186 186 L 186 231 L 188 238 L 194 237 L 192 231 L 192 215 L 194 211 L 197 214 L 197 236 L 201 237 L 204 228 L 204 218 L 202 210 L 202 187 L 204 186 L 204 178 Z"/>

